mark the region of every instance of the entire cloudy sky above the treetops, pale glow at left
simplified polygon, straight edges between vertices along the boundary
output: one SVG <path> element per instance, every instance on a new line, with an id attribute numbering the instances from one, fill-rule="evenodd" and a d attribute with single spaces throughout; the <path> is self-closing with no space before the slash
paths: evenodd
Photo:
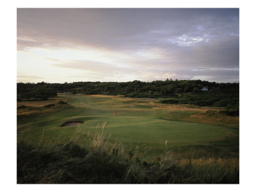
<path id="1" fill-rule="evenodd" d="M 17 82 L 166 78 L 239 82 L 239 9 L 17 9 Z"/>

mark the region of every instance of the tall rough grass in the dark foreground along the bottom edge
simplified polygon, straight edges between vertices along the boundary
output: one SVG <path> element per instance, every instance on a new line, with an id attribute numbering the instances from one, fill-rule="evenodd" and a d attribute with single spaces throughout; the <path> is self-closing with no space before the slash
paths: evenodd
<path id="1" fill-rule="evenodd" d="M 102 129 L 104 130 L 104 129 Z M 79 128 L 68 142 L 29 145 L 18 138 L 18 184 L 237 184 L 238 159 L 158 159 L 109 143 L 104 131 L 77 145 Z"/>

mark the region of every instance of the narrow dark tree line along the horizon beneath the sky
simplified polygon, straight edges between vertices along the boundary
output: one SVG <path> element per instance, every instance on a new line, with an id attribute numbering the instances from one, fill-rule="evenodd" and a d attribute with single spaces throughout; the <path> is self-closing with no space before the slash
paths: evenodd
<path id="1" fill-rule="evenodd" d="M 207 92 L 239 92 L 239 83 L 216 83 L 201 80 L 173 81 L 129 81 L 129 82 L 74 82 L 74 83 L 17 83 L 17 94 L 20 97 L 44 98 L 57 93 L 84 93 L 88 95 L 125 95 L 127 97 L 168 97 L 176 93 L 200 93 L 202 88 Z"/>

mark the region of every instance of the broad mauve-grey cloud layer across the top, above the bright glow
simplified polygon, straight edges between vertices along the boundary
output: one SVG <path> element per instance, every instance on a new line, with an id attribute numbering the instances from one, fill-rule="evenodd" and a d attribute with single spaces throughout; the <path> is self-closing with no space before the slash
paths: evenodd
<path id="1" fill-rule="evenodd" d="M 218 11 L 218 15 L 214 12 Z M 108 49 L 156 46 L 163 38 L 238 33 L 237 9 L 18 9 L 20 47 L 63 44 Z M 230 13 L 230 15 L 228 15 Z M 231 17 L 231 18 L 230 18 Z M 204 31 L 197 29 L 201 26 Z M 227 28 L 227 26 L 230 26 Z M 165 35 L 149 31 L 166 31 Z M 232 31 L 230 31 L 232 30 Z M 193 31 L 193 32 L 191 32 Z M 224 33 L 225 32 L 225 33 Z M 19 45 L 18 44 L 18 45 Z"/>

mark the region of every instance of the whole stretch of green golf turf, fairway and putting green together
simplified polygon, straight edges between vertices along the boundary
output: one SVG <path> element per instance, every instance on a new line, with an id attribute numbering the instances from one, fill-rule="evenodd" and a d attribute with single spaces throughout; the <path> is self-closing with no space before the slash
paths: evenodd
<path id="1" fill-rule="evenodd" d="M 189 116 L 197 109 L 165 109 L 154 99 L 127 99 L 108 95 L 58 95 L 68 100 L 72 108 L 38 116 L 24 124 L 18 124 L 18 132 L 31 142 L 42 139 L 68 138 L 79 128 L 83 135 L 104 132 L 109 141 L 122 141 L 124 145 L 149 147 L 154 154 L 173 148 L 179 152 L 198 148 L 201 153 L 220 150 L 222 153 L 238 152 L 238 128 L 221 124 L 189 122 Z M 115 113 L 116 111 L 116 113 Z M 179 118 L 175 119 L 175 115 Z M 174 116 L 174 118 L 166 118 Z M 184 116 L 184 121 L 180 120 Z M 84 122 L 79 126 L 61 127 L 68 121 Z M 236 147 L 234 147 L 234 143 Z M 211 152 L 210 152 L 211 151 Z M 199 152 L 198 152 L 199 153 Z"/>

